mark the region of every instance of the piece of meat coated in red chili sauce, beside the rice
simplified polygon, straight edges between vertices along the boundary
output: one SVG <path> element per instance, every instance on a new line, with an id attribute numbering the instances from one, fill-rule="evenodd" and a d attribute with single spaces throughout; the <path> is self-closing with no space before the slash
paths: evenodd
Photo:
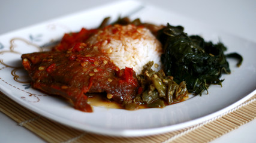
<path id="1" fill-rule="evenodd" d="M 67 51 L 23 54 L 22 64 L 33 88 L 61 95 L 82 111 L 92 112 L 86 93 L 103 92 L 121 104 L 132 102 L 137 94 L 135 72 L 116 67 L 97 46 L 78 42 Z"/>

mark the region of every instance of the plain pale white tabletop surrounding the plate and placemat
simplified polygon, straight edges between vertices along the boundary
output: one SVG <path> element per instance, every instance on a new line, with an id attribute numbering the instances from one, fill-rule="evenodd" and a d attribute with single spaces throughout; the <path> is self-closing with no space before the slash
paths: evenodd
<path id="1" fill-rule="evenodd" d="M 114 0 L 112 0 L 114 1 Z M 98 5 L 112 2 L 94 1 L 10 1 L 1 0 L 0 35 L 22 27 L 31 26 L 65 14 L 76 13 Z M 117 0 L 115 0 L 117 1 Z M 155 1 L 141 0 L 144 3 L 162 7 L 173 13 L 210 24 L 249 41 L 256 42 L 256 1 Z M 215 139 L 212 142 L 255 142 L 256 120 Z M 0 142 L 45 142 L 34 133 L 17 125 L 0 112 Z"/>

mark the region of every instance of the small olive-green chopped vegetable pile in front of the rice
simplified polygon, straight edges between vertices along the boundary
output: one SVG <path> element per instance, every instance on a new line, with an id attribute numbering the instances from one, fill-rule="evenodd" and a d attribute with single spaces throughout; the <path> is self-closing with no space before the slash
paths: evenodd
<path id="1" fill-rule="evenodd" d="M 137 104 L 146 104 L 147 107 L 164 107 L 164 102 L 170 105 L 188 95 L 185 82 L 178 85 L 172 76 L 165 76 L 163 70 L 153 71 L 152 66 L 153 61 L 150 61 L 144 66 L 142 74 L 137 76 L 141 85 L 141 94 L 138 94 L 134 100 Z"/>

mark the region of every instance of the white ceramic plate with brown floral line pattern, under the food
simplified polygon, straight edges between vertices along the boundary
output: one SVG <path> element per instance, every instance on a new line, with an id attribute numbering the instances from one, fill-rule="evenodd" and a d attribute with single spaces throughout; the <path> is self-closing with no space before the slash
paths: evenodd
<path id="1" fill-rule="evenodd" d="M 224 75 L 222 88 L 212 85 L 209 94 L 192 97 L 165 108 L 136 111 L 94 107 L 93 113 L 75 110 L 68 102 L 32 89 L 26 72 L 20 68 L 20 55 L 43 51 L 47 44 L 58 41 L 64 33 L 82 27 L 97 27 L 104 17 L 115 20 L 119 15 L 140 18 L 155 24 L 180 24 L 189 35 L 198 34 L 206 40 L 223 42 L 227 52 L 238 52 L 244 58 L 237 68 L 230 62 L 230 75 Z M 135 1 L 122 1 L 89 11 L 46 21 L 0 36 L 0 89 L 11 99 L 42 116 L 73 128 L 116 136 L 140 136 L 185 128 L 213 119 L 256 94 L 256 43 L 215 30 L 189 18 L 163 11 Z"/>

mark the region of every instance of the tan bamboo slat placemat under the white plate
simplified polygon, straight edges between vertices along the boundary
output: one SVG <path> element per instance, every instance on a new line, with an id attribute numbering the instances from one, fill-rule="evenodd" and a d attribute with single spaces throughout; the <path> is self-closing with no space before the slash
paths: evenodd
<path id="1" fill-rule="evenodd" d="M 129 138 L 97 135 L 61 125 L 22 107 L 1 92 L 0 111 L 46 142 L 210 142 L 256 118 L 256 95 L 207 122 L 159 135 Z"/>

